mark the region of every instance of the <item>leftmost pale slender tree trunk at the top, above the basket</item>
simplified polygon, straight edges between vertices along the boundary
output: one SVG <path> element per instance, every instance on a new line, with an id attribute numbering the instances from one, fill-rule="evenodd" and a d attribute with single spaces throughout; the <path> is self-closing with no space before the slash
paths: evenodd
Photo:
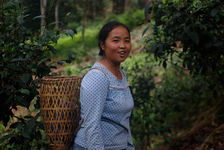
<path id="1" fill-rule="evenodd" d="M 40 35 L 43 35 L 46 28 L 46 7 L 47 0 L 40 0 L 40 12 L 41 12 L 41 22 L 40 22 Z"/>

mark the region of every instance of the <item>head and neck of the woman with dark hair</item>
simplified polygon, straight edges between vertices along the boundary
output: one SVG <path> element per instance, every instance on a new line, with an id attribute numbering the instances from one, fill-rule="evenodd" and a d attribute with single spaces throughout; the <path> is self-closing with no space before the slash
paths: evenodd
<path id="1" fill-rule="evenodd" d="M 106 66 L 118 79 L 121 79 L 120 63 L 123 62 L 131 50 L 129 29 L 118 22 L 110 22 L 99 33 L 99 61 Z"/>

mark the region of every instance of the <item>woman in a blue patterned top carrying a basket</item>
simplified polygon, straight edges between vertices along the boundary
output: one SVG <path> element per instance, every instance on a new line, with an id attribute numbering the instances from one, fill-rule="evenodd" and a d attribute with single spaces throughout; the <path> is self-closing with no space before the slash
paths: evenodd
<path id="1" fill-rule="evenodd" d="M 74 150 L 133 150 L 129 117 L 134 106 L 126 75 L 120 69 L 131 50 L 129 29 L 109 22 L 99 33 L 99 55 L 80 89 L 83 123 Z"/>

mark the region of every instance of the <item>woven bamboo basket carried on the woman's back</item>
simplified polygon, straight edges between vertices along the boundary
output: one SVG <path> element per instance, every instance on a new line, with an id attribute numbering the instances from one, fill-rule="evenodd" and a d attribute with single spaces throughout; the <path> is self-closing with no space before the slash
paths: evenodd
<path id="1" fill-rule="evenodd" d="M 80 121 L 81 77 L 44 77 L 40 84 L 40 110 L 53 150 L 68 150 Z"/>

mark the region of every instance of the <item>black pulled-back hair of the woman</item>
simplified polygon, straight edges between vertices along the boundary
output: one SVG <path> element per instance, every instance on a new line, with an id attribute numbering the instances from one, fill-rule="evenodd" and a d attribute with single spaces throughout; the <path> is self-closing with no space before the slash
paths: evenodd
<path id="1" fill-rule="evenodd" d="M 103 56 L 104 55 L 104 51 L 103 49 L 101 48 L 100 46 L 100 43 L 102 42 L 103 44 L 105 44 L 105 41 L 109 35 L 109 33 L 116 27 L 118 26 L 122 26 L 124 27 L 125 29 L 128 30 L 128 33 L 130 35 L 130 30 L 128 29 L 128 27 L 120 22 L 117 22 L 117 21 L 111 21 L 111 22 L 108 22 L 106 23 L 100 30 L 99 32 L 99 35 L 98 35 L 98 47 L 100 48 L 100 52 L 99 52 L 99 55 L 100 56 Z"/>

